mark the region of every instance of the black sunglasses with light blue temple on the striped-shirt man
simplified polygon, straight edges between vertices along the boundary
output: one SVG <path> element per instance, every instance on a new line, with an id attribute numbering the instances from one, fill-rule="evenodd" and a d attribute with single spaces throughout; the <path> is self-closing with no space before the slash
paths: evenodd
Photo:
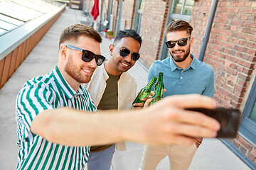
<path id="1" fill-rule="evenodd" d="M 84 62 L 90 62 L 93 60 L 93 58 L 95 58 L 96 64 L 97 66 L 100 66 L 104 60 L 106 59 L 104 56 L 102 55 L 95 55 L 95 53 L 88 51 L 88 50 L 82 50 L 79 47 L 75 47 L 73 45 L 65 45 L 66 47 L 68 47 L 71 50 L 78 50 L 82 52 L 82 61 Z"/>

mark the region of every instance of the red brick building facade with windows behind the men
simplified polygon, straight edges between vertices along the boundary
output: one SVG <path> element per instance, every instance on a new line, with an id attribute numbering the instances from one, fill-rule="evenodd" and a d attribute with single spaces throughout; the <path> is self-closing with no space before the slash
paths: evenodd
<path id="1" fill-rule="evenodd" d="M 93 0 L 84 4 L 93 5 Z M 164 28 L 176 19 L 193 26 L 191 53 L 198 57 L 212 0 L 99 0 L 100 17 L 116 33 L 133 28 L 142 35 L 140 61 L 149 68 L 169 57 Z M 88 6 L 87 6 L 88 7 Z M 219 106 L 242 111 L 238 137 L 222 140 L 250 167 L 256 167 L 256 1 L 219 0 L 204 55 L 215 74 Z"/>

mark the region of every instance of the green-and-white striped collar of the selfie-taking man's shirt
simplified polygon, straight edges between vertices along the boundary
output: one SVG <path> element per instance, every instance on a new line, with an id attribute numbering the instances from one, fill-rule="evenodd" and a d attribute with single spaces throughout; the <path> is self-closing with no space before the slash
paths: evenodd
<path id="1" fill-rule="evenodd" d="M 78 88 L 78 93 L 68 84 L 68 82 L 64 79 L 63 75 L 60 74 L 60 71 L 58 67 L 56 66 L 55 69 L 53 69 L 53 76 L 55 77 L 55 80 L 57 81 L 58 85 L 61 89 L 63 89 L 65 95 L 68 97 L 68 99 L 75 96 L 75 94 L 84 94 L 82 91 L 82 86 L 80 85 Z"/>

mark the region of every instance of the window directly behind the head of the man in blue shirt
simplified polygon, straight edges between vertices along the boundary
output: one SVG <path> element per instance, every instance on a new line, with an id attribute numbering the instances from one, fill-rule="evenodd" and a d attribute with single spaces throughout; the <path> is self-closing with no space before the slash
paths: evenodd
<path id="1" fill-rule="evenodd" d="M 168 23 L 171 23 L 171 21 L 174 21 L 174 20 L 183 20 L 183 21 L 189 22 L 191 18 L 190 15 L 191 15 L 193 4 L 194 4 L 194 0 L 173 0 L 171 3 Z M 165 41 L 166 41 L 166 38 L 164 38 L 164 42 Z M 168 48 L 164 44 L 162 54 L 161 54 L 161 60 L 164 60 L 168 57 L 171 57 L 171 55 Z"/>

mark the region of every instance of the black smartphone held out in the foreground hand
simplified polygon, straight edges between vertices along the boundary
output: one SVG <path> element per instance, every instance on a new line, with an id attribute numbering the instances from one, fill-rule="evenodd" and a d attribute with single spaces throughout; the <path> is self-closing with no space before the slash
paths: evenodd
<path id="1" fill-rule="evenodd" d="M 238 134 L 241 112 L 238 108 L 186 108 L 188 111 L 198 111 L 218 120 L 221 125 L 217 138 L 235 138 Z"/>

